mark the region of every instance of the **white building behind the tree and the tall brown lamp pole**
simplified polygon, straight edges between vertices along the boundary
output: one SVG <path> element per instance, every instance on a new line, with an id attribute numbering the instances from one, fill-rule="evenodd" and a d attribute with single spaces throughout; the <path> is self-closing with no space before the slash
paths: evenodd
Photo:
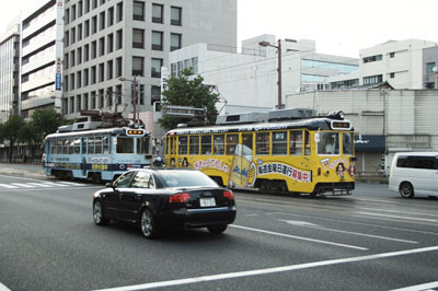
<path id="1" fill-rule="evenodd" d="M 192 66 L 228 105 L 273 108 L 278 104 L 278 55 L 275 47 L 261 47 L 262 40 L 277 46 L 274 35 L 262 35 L 242 42 L 241 53 L 224 45 L 184 47 L 171 53 L 170 73 Z M 314 40 L 281 39 L 281 102 L 288 94 L 319 88 L 331 75 L 358 70 L 358 59 L 315 53 Z"/>

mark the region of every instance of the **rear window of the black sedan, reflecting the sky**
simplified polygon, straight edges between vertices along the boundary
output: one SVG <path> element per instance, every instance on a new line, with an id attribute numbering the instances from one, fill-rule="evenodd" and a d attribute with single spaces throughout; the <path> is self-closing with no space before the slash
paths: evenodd
<path id="1" fill-rule="evenodd" d="M 197 171 L 160 171 L 168 187 L 218 187 L 210 177 Z"/>

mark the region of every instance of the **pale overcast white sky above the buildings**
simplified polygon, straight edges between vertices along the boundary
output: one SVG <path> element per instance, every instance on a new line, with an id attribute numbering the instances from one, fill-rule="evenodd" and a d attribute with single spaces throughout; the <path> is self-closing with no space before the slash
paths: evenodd
<path id="1" fill-rule="evenodd" d="M 0 36 L 35 2 L 3 0 Z M 263 34 L 312 39 L 316 53 L 358 58 L 359 49 L 390 39 L 438 42 L 438 0 L 238 0 L 238 47 Z"/>

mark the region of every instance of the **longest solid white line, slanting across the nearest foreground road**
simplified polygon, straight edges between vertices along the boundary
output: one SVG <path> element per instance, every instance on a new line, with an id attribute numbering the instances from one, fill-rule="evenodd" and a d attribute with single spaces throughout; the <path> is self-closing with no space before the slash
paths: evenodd
<path id="1" fill-rule="evenodd" d="M 234 279 L 234 278 L 242 278 L 242 277 L 250 277 L 250 276 L 268 275 L 268 273 L 275 273 L 275 272 L 302 270 L 302 269 L 324 267 L 324 266 L 331 266 L 331 265 L 357 263 L 357 261 L 364 261 L 364 260 L 397 257 L 397 256 L 412 255 L 412 254 L 426 253 L 426 252 L 437 252 L 437 251 L 438 251 L 438 246 L 430 246 L 430 247 L 423 247 L 423 248 L 407 249 L 407 251 L 399 251 L 399 252 L 391 252 L 391 253 L 383 253 L 383 254 L 376 254 L 376 255 L 368 255 L 368 256 L 330 259 L 330 260 L 322 260 L 322 261 L 314 261 L 314 263 L 304 263 L 304 264 L 290 265 L 290 266 L 284 266 L 284 267 L 275 267 L 275 268 L 266 268 L 266 269 L 257 269 L 257 270 L 249 270 L 249 271 L 238 271 L 238 272 L 228 272 L 228 273 L 218 273 L 218 275 L 200 276 L 200 277 L 178 279 L 178 280 L 169 280 L 169 281 L 151 282 L 151 283 L 145 283 L 145 284 L 136 284 L 136 286 L 126 286 L 126 287 L 118 287 L 118 288 L 101 289 L 101 290 L 96 290 L 96 291 L 136 291 L 136 290 L 146 290 L 146 289 L 152 289 L 152 288 L 162 288 L 162 287 L 181 286 L 181 284 L 189 284 L 189 283 L 209 282 L 209 281 L 215 281 L 215 280 Z"/>

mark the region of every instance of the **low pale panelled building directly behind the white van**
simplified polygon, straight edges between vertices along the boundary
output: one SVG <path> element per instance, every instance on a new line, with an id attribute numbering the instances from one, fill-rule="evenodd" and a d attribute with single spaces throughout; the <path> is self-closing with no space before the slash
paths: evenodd
<path id="1" fill-rule="evenodd" d="M 435 90 L 327 90 L 287 96 L 287 107 L 343 110 L 356 135 L 357 170 L 389 173 L 400 151 L 437 151 Z"/>

